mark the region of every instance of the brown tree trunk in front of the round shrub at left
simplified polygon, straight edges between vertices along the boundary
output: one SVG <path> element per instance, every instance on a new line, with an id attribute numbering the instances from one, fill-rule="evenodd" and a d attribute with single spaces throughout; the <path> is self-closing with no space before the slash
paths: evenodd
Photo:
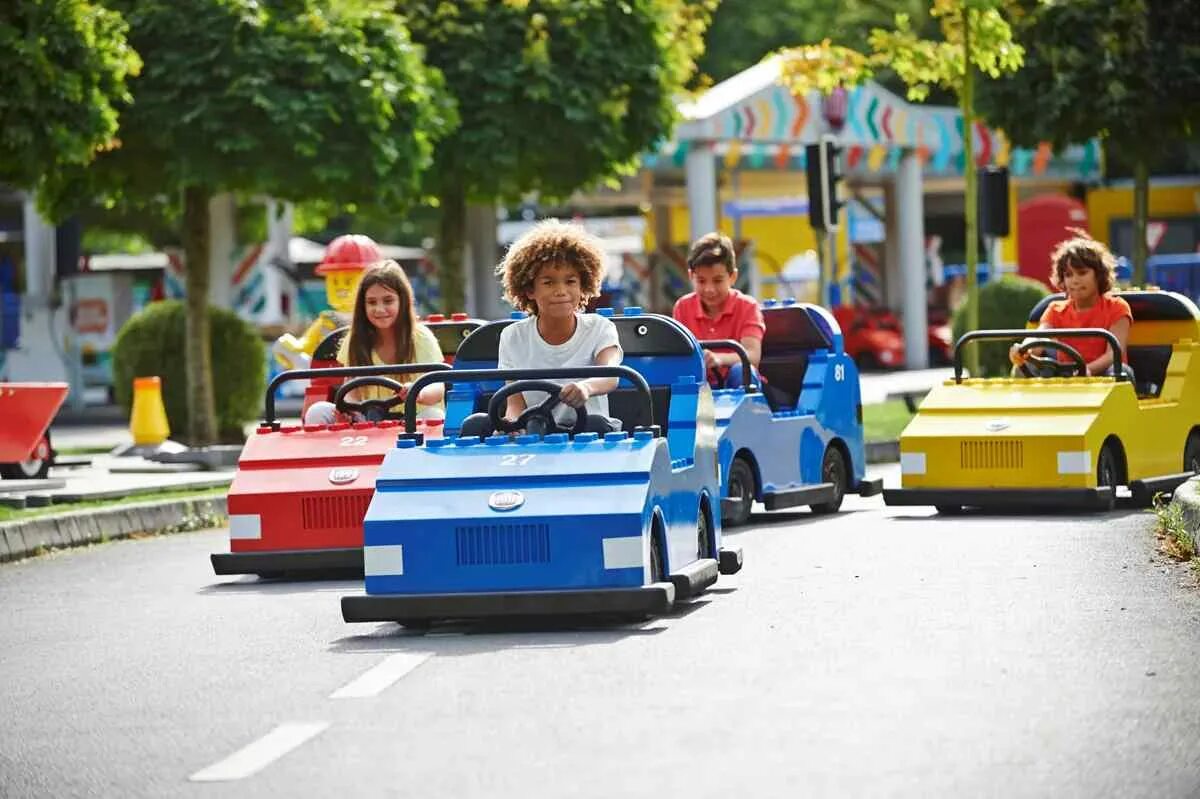
<path id="1" fill-rule="evenodd" d="M 192 446 L 217 440 L 212 398 L 212 336 L 209 330 L 209 191 L 184 190 L 184 257 L 187 266 L 187 439 Z M 241 368 L 257 365 L 241 365 Z"/>

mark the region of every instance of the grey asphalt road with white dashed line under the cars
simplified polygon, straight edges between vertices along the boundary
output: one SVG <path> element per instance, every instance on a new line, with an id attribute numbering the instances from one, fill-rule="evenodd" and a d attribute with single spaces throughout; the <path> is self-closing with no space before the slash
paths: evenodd
<path id="1" fill-rule="evenodd" d="M 1150 517 L 847 501 L 641 625 L 346 625 L 223 531 L 0 566 L 4 797 L 1195 797 L 1200 590 Z"/>

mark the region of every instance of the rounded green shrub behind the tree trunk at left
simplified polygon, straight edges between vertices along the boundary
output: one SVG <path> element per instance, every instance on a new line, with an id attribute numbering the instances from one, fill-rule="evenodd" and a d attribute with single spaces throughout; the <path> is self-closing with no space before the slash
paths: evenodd
<path id="1" fill-rule="evenodd" d="M 133 378 L 162 378 L 162 402 L 172 438 L 187 434 L 185 313 L 178 300 L 154 302 L 134 314 L 113 344 L 113 391 L 126 411 L 133 402 Z M 212 332 L 212 391 L 222 440 L 241 443 L 242 427 L 262 413 L 266 390 L 266 352 L 258 331 L 224 308 L 209 308 Z"/>

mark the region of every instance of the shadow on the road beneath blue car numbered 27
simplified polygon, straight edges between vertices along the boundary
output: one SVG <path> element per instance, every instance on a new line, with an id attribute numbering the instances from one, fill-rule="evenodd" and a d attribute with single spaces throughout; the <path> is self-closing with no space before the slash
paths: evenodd
<path id="1" fill-rule="evenodd" d="M 436 623 L 428 630 L 383 623 L 366 635 L 337 638 L 330 643 L 329 650 L 361 654 L 433 649 L 438 655 L 455 656 L 500 649 L 574 649 L 606 645 L 624 638 L 666 632 L 671 621 L 691 615 L 709 601 L 701 597 L 679 602 L 666 615 L 638 620 L 612 615 L 455 619 Z"/>

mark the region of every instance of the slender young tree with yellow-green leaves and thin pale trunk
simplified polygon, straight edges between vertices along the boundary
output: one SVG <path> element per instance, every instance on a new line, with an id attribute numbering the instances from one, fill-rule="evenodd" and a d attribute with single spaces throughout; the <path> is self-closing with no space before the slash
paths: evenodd
<path id="1" fill-rule="evenodd" d="M 923 101 L 935 86 L 954 92 L 962 112 L 962 130 L 970 132 L 974 126 L 976 72 L 995 79 L 1021 66 L 1025 52 L 1014 41 L 1007 19 L 1013 11 L 1013 0 L 932 0 L 930 14 L 941 25 L 940 41 L 922 38 L 908 17 L 899 13 L 893 30 L 877 28 L 871 31 L 870 56 L 826 41 L 818 46 L 786 50 L 784 77 L 793 91 L 820 89 L 828 92 L 839 84 L 859 83 L 875 68 L 886 66 L 907 84 L 908 100 Z M 970 330 L 977 330 L 978 186 L 970 134 L 962 137 L 962 150 L 966 179 L 966 324 Z M 972 374 L 977 373 L 974 350 L 967 358 Z"/>

